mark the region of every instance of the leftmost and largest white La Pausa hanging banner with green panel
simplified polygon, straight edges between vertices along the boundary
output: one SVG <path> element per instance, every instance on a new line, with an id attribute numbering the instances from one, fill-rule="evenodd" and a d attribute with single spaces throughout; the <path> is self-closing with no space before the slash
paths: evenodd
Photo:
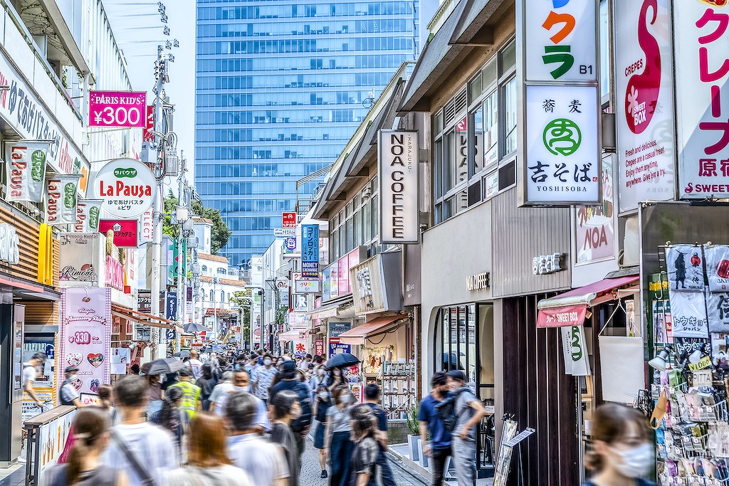
<path id="1" fill-rule="evenodd" d="M 42 202 L 49 150 L 50 142 L 47 141 L 17 141 L 5 145 L 5 200 Z"/>

